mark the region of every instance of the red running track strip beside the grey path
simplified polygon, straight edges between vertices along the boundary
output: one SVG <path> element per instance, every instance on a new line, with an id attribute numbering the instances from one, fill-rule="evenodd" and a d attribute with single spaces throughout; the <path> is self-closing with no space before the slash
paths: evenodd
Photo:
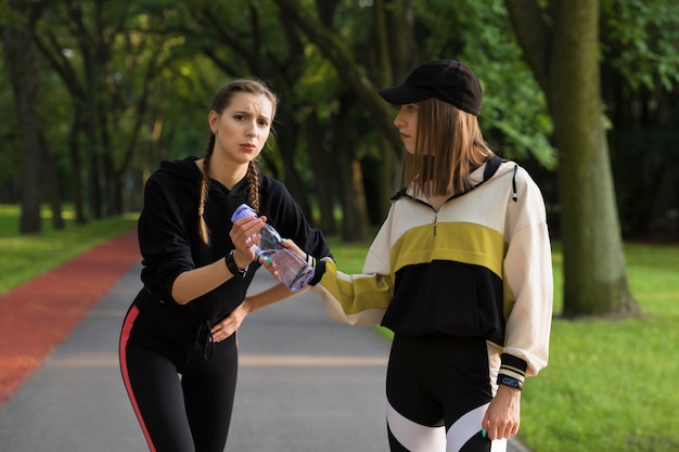
<path id="1" fill-rule="evenodd" d="M 140 259 L 131 230 L 0 295 L 0 404 Z"/>

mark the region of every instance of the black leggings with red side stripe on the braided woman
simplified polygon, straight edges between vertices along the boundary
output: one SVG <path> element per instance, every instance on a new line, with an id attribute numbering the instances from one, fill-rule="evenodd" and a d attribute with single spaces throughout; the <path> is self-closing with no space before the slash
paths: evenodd
<path id="1" fill-rule="evenodd" d="M 223 452 L 238 374 L 235 334 L 214 345 L 212 359 L 187 347 L 178 363 L 130 339 L 136 314 L 132 308 L 123 326 L 120 370 L 149 449 Z"/>

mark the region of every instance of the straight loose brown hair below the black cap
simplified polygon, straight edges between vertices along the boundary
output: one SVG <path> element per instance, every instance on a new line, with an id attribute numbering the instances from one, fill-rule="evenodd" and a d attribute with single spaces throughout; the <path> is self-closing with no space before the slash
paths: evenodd
<path id="1" fill-rule="evenodd" d="M 478 119 L 434 98 L 417 104 L 415 150 L 403 158 L 403 184 L 425 196 L 471 190 L 470 175 L 494 155 L 481 133 Z"/>

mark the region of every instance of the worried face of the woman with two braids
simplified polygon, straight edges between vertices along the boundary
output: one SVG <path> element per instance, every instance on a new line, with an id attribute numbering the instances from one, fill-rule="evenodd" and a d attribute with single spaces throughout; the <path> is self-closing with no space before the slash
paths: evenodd
<path id="1" fill-rule="evenodd" d="M 239 92 L 219 115 L 209 112 L 215 133 L 215 154 L 236 164 L 247 164 L 261 152 L 271 131 L 273 104 L 264 94 Z"/>

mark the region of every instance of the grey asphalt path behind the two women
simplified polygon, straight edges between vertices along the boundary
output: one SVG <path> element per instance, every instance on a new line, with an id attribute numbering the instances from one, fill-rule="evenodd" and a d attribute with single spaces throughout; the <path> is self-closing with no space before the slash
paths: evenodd
<path id="1" fill-rule="evenodd" d="M 139 271 L 133 266 L 0 405 L 0 452 L 148 450 L 117 360 Z M 260 271 L 251 289 L 271 284 Z M 305 293 L 246 318 L 239 347 L 227 451 L 388 451 L 389 346 L 373 328 L 335 323 L 319 297 Z M 516 441 L 509 450 L 525 451 Z"/>

